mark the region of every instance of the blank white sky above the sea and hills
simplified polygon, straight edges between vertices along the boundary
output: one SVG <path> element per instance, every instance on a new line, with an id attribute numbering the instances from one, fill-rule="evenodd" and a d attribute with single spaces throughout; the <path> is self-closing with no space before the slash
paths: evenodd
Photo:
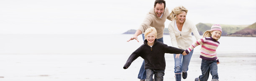
<path id="1" fill-rule="evenodd" d="M 179 5 L 195 24 L 256 22 L 256 0 L 166 0 L 169 11 Z M 152 7 L 154 0 L 0 0 L 0 34 L 121 34 L 138 29 Z"/>

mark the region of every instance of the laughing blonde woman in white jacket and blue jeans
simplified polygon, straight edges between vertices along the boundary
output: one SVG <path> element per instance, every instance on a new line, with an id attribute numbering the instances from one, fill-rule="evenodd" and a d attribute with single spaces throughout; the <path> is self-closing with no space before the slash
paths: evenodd
<path id="1" fill-rule="evenodd" d="M 200 39 L 200 34 L 197 31 L 197 27 L 189 20 L 186 19 L 187 9 L 183 6 L 174 7 L 170 13 L 172 22 L 169 24 L 169 34 L 172 40 L 172 46 L 180 49 L 187 49 L 192 43 L 192 34 L 196 39 Z M 187 70 L 189 61 L 193 54 L 193 50 L 186 56 L 182 54 L 174 54 L 174 73 L 176 81 L 181 81 L 181 75 L 183 79 L 187 78 Z M 181 58 L 179 58 L 181 57 Z"/>

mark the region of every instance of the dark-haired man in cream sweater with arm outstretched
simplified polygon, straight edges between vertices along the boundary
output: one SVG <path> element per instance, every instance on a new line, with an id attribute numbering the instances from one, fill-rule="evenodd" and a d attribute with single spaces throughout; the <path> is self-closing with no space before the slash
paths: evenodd
<path id="1" fill-rule="evenodd" d="M 130 40 L 136 39 L 138 41 L 138 35 L 142 34 L 145 32 L 147 28 L 150 27 L 155 27 L 157 31 L 157 41 L 159 42 L 164 42 L 163 36 L 164 36 L 164 22 L 166 19 L 171 20 L 172 18 L 169 16 L 169 10 L 166 7 L 166 3 L 164 0 L 156 0 L 154 3 L 154 7 L 148 12 L 146 15 L 146 18 L 138 28 L 135 34 L 133 34 L 133 37 L 129 39 L 127 42 Z M 142 34 L 143 40 L 144 34 Z M 139 41 L 138 41 L 139 42 Z M 141 81 L 145 81 L 146 79 L 146 70 L 144 68 L 144 63 L 143 61 L 141 65 L 141 69 L 138 74 L 138 79 L 141 79 Z"/>

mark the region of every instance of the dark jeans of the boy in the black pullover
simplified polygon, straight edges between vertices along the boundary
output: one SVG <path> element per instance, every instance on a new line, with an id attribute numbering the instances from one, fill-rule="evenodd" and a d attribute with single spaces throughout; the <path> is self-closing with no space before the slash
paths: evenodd
<path id="1" fill-rule="evenodd" d="M 146 81 L 164 81 L 164 70 L 154 70 L 154 69 L 146 69 L 147 78 Z M 154 79 L 153 79 L 153 75 Z"/>

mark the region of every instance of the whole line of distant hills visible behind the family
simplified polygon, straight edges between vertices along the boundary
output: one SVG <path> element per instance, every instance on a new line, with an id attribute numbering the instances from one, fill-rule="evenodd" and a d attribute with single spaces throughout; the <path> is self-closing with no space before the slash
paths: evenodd
<path id="1" fill-rule="evenodd" d="M 198 23 L 196 25 L 196 27 L 197 27 L 199 34 L 202 35 L 206 30 L 210 30 L 212 25 L 213 24 L 209 24 L 209 23 Z M 223 31 L 222 36 L 242 36 L 241 34 L 239 35 L 239 34 L 233 34 L 233 33 L 238 32 L 238 31 L 248 32 L 246 30 L 253 29 L 256 26 L 255 23 L 253 25 L 222 25 L 222 24 L 220 24 L 220 25 L 221 25 L 222 31 Z M 245 29 L 245 30 L 243 30 L 243 29 Z M 136 32 L 135 29 L 131 29 L 123 34 L 134 34 L 135 32 Z M 164 28 L 164 34 L 169 35 L 168 28 Z M 245 36 L 245 35 L 243 35 L 243 36 Z M 247 36 L 249 36 L 249 35 L 247 35 Z M 251 35 L 251 36 L 253 36 L 253 35 Z"/>

